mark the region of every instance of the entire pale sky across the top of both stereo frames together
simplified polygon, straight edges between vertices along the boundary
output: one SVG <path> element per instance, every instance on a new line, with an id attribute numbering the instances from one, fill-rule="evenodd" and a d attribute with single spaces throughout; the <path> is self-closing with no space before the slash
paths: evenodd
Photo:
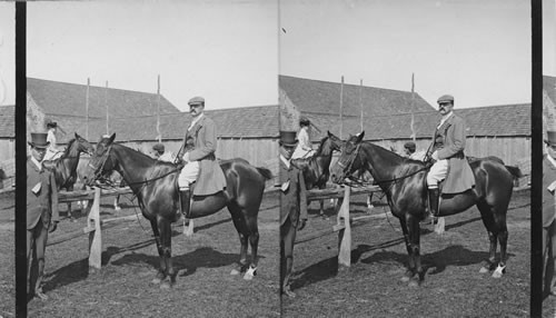
<path id="1" fill-rule="evenodd" d="M 415 90 L 430 105 L 530 101 L 526 0 L 28 2 L 28 76 L 161 93 L 179 109 L 276 105 L 276 73 Z M 556 76 L 556 0 L 543 0 Z M 0 2 L 0 105 L 14 103 L 14 3 Z M 284 30 L 281 30 L 284 29 Z"/>

